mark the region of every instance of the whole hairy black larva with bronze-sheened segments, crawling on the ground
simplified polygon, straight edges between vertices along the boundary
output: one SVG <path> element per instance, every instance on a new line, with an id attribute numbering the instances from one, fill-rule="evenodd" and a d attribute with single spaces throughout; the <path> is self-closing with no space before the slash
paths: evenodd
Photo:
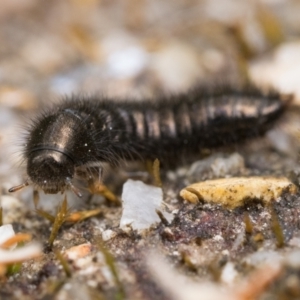
<path id="1" fill-rule="evenodd" d="M 71 188 L 80 195 L 74 177 L 91 179 L 101 162 L 158 158 L 174 165 L 201 148 L 264 133 L 284 107 L 276 93 L 230 88 L 143 102 L 72 97 L 33 122 L 24 148 L 28 179 L 10 191 L 34 184 L 46 193 Z"/>

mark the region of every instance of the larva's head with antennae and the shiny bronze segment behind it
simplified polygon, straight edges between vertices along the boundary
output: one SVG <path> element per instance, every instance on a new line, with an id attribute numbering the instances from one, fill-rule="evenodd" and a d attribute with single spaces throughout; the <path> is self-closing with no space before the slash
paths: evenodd
<path id="1" fill-rule="evenodd" d="M 33 184 L 47 194 L 70 188 L 80 197 L 72 179 L 75 162 L 82 164 L 81 156 L 86 150 L 81 141 L 86 135 L 84 124 L 73 112 L 61 110 L 43 116 L 30 129 L 24 149 L 28 180 L 10 192 Z"/>

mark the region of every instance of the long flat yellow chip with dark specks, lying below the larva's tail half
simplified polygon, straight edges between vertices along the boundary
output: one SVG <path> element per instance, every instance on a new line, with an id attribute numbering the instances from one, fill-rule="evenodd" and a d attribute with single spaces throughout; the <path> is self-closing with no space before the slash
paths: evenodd
<path id="1" fill-rule="evenodd" d="M 204 200 L 232 209 L 247 200 L 268 203 L 283 192 L 295 194 L 297 187 L 284 177 L 233 177 L 194 183 L 181 190 L 180 196 L 192 203 Z"/>

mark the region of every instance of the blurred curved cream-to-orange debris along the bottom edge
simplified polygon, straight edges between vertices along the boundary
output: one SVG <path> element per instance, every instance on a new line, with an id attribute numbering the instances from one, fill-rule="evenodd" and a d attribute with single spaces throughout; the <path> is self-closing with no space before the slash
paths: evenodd
<path id="1" fill-rule="evenodd" d="M 281 264 L 263 264 L 246 278 L 237 280 L 236 284 L 225 286 L 208 281 L 192 281 L 172 269 L 158 254 L 150 253 L 146 261 L 153 279 L 174 300 L 258 299 L 282 270 Z"/>

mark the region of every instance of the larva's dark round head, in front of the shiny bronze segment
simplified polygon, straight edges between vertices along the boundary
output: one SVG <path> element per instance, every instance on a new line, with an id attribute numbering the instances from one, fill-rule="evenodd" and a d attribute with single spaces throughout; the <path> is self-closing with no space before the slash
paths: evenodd
<path id="1" fill-rule="evenodd" d="M 70 187 L 74 173 L 73 161 L 63 152 L 46 148 L 34 151 L 28 157 L 30 181 L 46 194 L 65 191 Z"/>

